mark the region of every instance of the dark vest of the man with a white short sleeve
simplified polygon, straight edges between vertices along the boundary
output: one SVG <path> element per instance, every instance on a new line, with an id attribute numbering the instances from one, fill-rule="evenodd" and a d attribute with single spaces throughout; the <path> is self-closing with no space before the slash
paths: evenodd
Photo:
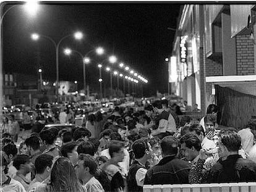
<path id="1" fill-rule="evenodd" d="M 140 168 L 146 169 L 145 167 L 140 165 L 138 161 L 134 161 L 132 166 L 130 166 L 129 173 L 127 176 L 128 191 L 143 191 L 143 187 L 138 186 L 136 181 L 136 173 Z"/>

